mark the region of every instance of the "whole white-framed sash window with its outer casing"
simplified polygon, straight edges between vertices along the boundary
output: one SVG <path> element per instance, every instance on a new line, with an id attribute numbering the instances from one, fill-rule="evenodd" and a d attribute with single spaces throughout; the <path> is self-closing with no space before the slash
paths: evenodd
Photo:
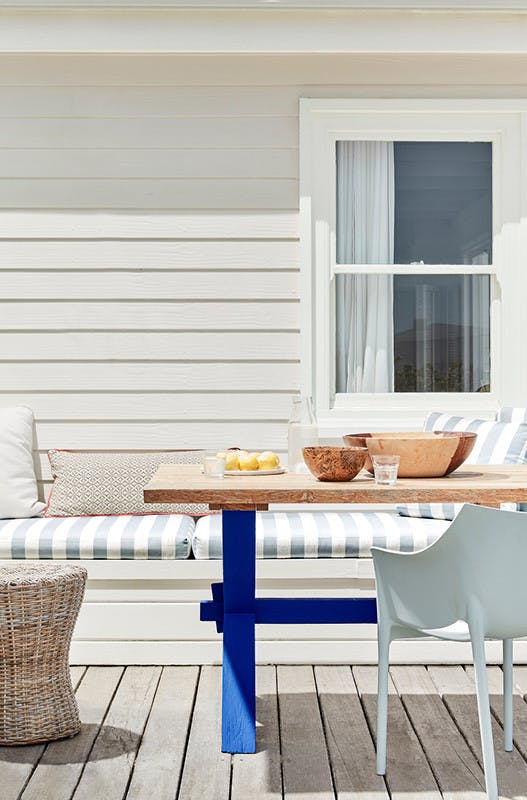
<path id="1" fill-rule="evenodd" d="M 302 374 L 322 424 L 524 404 L 526 111 L 301 101 Z"/>

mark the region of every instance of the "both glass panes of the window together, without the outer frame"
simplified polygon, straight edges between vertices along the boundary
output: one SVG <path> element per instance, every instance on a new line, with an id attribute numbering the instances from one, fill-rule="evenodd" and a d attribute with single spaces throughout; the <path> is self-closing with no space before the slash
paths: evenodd
<path id="1" fill-rule="evenodd" d="M 336 392 L 490 388 L 489 142 L 336 143 Z M 407 264 L 371 275 L 362 264 Z"/>

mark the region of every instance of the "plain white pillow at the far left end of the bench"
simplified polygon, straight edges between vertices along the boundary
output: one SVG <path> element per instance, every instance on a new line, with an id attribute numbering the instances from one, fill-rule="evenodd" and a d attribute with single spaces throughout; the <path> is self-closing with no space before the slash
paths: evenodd
<path id="1" fill-rule="evenodd" d="M 33 412 L 26 406 L 0 408 L 0 519 L 38 517 L 33 466 Z"/>

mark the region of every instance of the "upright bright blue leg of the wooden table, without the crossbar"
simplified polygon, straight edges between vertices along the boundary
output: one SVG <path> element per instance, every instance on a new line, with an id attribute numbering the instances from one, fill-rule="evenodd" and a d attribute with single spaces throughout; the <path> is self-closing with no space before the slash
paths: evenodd
<path id="1" fill-rule="evenodd" d="M 256 751 L 256 514 L 223 511 L 222 751 Z"/>

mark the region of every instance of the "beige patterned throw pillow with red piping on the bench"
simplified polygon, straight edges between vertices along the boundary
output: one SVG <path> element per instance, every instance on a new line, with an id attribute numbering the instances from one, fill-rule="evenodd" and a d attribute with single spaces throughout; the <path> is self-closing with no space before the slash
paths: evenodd
<path id="1" fill-rule="evenodd" d="M 145 503 L 143 489 L 160 464 L 200 464 L 202 450 L 151 453 L 90 453 L 50 450 L 53 488 L 46 517 L 107 514 L 191 514 L 209 512 L 204 504 Z"/>

